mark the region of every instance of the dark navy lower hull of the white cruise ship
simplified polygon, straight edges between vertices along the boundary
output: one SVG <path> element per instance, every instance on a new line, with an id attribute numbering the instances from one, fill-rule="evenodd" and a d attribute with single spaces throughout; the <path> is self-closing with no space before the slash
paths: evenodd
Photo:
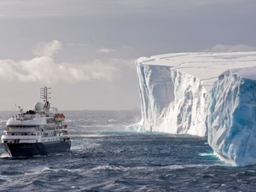
<path id="1" fill-rule="evenodd" d="M 67 152 L 71 141 L 51 143 L 1 143 L 3 148 L 12 157 L 29 157 L 47 155 L 50 153 Z"/>

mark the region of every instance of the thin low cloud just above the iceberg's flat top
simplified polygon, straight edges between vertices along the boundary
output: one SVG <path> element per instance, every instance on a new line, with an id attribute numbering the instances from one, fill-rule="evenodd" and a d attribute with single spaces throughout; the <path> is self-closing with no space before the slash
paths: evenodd
<path id="1" fill-rule="evenodd" d="M 236 44 L 236 45 L 227 45 L 227 44 L 216 44 L 211 49 L 205 49 L 207 52 L 221 52 L 221 51 L 253 51 L 256 50 L 256 47 L 249 46 L 247 44 Z"/>

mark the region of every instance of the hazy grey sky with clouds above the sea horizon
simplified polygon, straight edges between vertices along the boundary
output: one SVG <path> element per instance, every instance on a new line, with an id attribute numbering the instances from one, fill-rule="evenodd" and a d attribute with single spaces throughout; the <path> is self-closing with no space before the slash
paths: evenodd
<path id="1" fill-rule="evenodd" d="M 256 50 L 254 0 L 0 0 L 0 110 L 140 108 L 134 61 Z"/>

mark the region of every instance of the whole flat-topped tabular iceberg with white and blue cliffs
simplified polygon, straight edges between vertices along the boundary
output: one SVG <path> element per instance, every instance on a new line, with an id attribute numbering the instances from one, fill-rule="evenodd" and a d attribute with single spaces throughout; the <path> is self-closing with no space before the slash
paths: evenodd
<path id="1" fill-rule="evenodd" d="M 136 65 L 137 129 L 208 136 L 224 159 L 256 163 L 256 52 L 155 55 Z"/>

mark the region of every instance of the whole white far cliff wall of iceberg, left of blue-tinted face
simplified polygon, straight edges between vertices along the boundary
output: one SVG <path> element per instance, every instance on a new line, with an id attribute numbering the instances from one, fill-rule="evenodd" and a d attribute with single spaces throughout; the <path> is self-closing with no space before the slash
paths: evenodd
<path id="1" fill-rule="evenodd" d="M 207 90 L 200 79 L 166 66 L 137 65 L 144 131 L 205 136 Z"/>

